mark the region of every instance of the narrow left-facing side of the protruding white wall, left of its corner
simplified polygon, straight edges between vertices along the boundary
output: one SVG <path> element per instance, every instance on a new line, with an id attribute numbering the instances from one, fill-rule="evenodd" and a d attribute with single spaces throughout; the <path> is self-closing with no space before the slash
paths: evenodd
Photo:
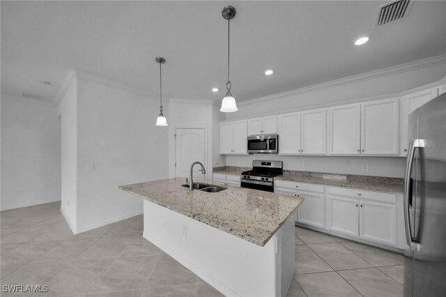
<path id="1" fill-rule="evenodd" d="M 58 105 L 61 115 L 61 212 L 70 228 L 77 226 L 77 80 Z"/>

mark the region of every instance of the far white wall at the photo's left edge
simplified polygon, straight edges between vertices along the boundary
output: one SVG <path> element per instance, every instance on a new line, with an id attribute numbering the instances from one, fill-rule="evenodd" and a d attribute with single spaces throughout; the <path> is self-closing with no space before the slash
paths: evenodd
<path id="1" fill-rule="evenodd" d="M 61 123 L 56 108 L 2 94 L 1 210 L 59 201 L 60 176 Z"/>

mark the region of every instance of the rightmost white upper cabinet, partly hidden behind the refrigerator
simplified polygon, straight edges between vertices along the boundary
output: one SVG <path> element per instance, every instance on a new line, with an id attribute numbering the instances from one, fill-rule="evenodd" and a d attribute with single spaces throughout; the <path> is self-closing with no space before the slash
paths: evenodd
<path id="1" fill-rule="evenodd" d="M 401 97 L 401 155 L 407 155 L 409 114 L 415 109 L 436 98 L 438 89 L 431 88 Z"/>

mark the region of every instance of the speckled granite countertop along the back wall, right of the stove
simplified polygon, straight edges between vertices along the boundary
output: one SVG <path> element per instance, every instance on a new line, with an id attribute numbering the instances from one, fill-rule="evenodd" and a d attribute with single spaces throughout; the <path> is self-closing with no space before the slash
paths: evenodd
<path id="1" fill-rule="evenodd" d="M 319 185 L 332 185 L 334 187 L 393 193 L 402 193 L 404 188 L 403 178 L 353 174 L 325 174 L 322 172 L 296 172 L 292 170 L 284 170 L 284 174 L 275 177 L 275 180 L 316 183 Z"/>

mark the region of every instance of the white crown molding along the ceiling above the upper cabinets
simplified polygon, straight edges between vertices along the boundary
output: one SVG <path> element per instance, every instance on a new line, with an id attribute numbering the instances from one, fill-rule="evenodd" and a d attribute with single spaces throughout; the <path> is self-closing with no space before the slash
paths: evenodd
<path id="1" fill-rule="evenodd" d="M 238 103 L 238 105 L 240 105 L 240 106 L 250 105 L 252 103 L 261 102 L 264 100 L 271 100 L 272 98 L 297 95 L 300 93 L 314 91 L 316 89 L 319 89 L 319 90 L 320 89 L 330 89 L 330 88 L 334 88 L 337 86 L 344 86 L 346 84 L 353 84 L 355 82 L 364 82 L 369 79 L 377 79 L 380 77 L 396 75 L 399 73 L 405 73 L 408 71 L 437 66 L 437 65 L 441 65 L 441 64 L 446 64 L 446 54 L 442 54 L 440 56 L 433 56 L 431 58 L 413 61 L 413 62 L 409 62 L 409 63 L 404 63 L 404 64 L 400 64 L 397 66 L 374 70 L 374 71 L 370 71 L 368 73 L 362 73 L 360 75 L 352 75 L 352 76 L 344 77 L 341 79 L 334 79 L 330 82 L 323 82 L 321 84 L 314 84 L 312 86 L 304 86 L 303 88 L 300 88 L 300 89 L 294 89 L 291 91 L 275 93 L 275 94 L 268 95 L 268 96 L 254 98 L 254 99 L 246 100 L 246 101 L 241 101 L 240 103 Z"/>

